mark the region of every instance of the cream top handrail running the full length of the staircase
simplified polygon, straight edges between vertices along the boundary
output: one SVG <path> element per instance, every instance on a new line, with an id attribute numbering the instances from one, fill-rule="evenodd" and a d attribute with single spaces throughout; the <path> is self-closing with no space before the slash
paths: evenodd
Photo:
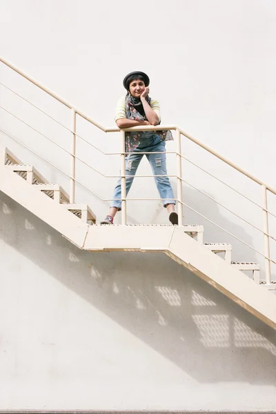
<path id="1" fill-rule="evenodd" d="M 62 97 L 57 95 L 52 90 L 46 88 L 46 86 L 43 86 L 42 83 L 38 82 L 36 79 L 34 79 L 30 75 L 28 75 L 26 72 L 23 72 L 22 70 L 17 68 L 17 66 L 15 66 L 13 63 L 10 63 L 10 61 L 8 61 L 7 59 L 4 59 L 3 57 L 0 56 L 0 61 L 2 63 L 4 63 L 6 66 L 8 66 L 9 68 L 11 68 L 12 70 L 14 70 L 15 72 L 19 73 L 19 75 L 23 76 L 25 79 L 28 79 L 28 81 L 30 81 L 34 85 L 38 86 L 44 92 L 48 93 L 48 95 L 51 95 L 53 98 L 57 99 L 57 101 L 63 103 L 63 105 L 67 106 L 70 109 L 74 109 L 75 112 L 78 115 L 83 117 L 83 119 L 86 119 L 86 121 L 90 122 L 94 126 L 97 126 L 97 128 L 101 129 L 103 132 L 119 132 L 120 131 L 119 128 L 106 128 L 106 127 L 102 126 L 101 124 L 99 124 L 99 122 L 96 122 L 94 119 L 92 119 L 91 117 L 86 115 L 86 113 L 83 112 L 83 110 L 79 110 L 74 105 L 72 105 L 72 103 L 70 103 L 69 101 L 66 101 L 66 99 L 63 99 Z M 268 190 L 270 190 L 271 193 L 276 195 L 276 189 L 275 188 L 269 186 L 264 181 L 259 180 L 257 177 L 250 174 L 250 172 L 247 172 L 243 168 L 237 166 L 233 161 L 230 161 L 229 159 L 227 159 L 223 155 L 220 155 L 219 152 L 217 152 L 216 150 L 213 150 L 212 148 L 210 148 L 209 146 L 207 146 L 203 142 L 199 141 L 199 139 L 196 139 L 192 135 L 188 134 L 188 132 L 185 132 L 183 129 L 181 129 L 181 128 L 175 126 L 175 125 L 158 125 L 158 126 L 144 125 L 144 126 L 132 126 L 132 128 L 124 128 L 124 131 L 126 131 L 126 132 L 141 131 L 141 130 L 145 130 L 145 131 L 146 130 L 179 130 L 179 132 L 181 132 L 181 134 L 184 135 L 184 137 L 190 139 L 190 141 L 193 141 L 198 146 L 201 146 L 201 148 L 204 148 L 204 150 L 210 152 L 210 154 L 215 155 L 215 157 L 221 159 L 221 161 L 224 161 L 229 166 L 235 168 L 235 170 L 241 172 L 243 175 L 246 175 L 246 177 L 252 179 L 253 181 L 255 181 L 260 186 L 266 186 L 266 188 Z"/>

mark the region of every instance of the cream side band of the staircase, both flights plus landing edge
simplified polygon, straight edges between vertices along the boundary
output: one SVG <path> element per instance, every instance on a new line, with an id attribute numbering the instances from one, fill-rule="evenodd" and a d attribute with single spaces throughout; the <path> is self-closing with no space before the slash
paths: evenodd
<path id="1" fill-rule="evenodd" d="M 79 248 L 163 252 L 276 328 L 275 296 L 186 235 L 195 226 L 88 226 L 5 165 L 0 166 L 0 190 Z"/>

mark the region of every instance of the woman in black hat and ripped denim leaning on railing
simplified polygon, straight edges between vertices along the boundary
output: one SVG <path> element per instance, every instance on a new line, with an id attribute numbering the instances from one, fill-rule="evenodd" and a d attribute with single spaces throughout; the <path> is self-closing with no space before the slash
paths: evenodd
<path id="1" fill-rule="evenodd" d="M 150 79 L 144 72 L 130 72 L 124 79 L 126 97 L 117 103 L 115 121 L 119 128 L 160 124 L 159 102 L 148 97 Z M 165 152 L 165 142 L 172 138 L 170 131 L 126 132 L 126 194 L 130 190 L 137 168 L 143 157 L 141 152 Z M 167 175 L 166 154 L 146 154 L 153 175 Z M 155 183 L 172 224 L 178 224 L 175 200 L 168 177 L 155 177 Z M 101 224 L 113 224 L 117 211 L 121 210 L 121 179 L 115 187 L 109 214 Z"/>

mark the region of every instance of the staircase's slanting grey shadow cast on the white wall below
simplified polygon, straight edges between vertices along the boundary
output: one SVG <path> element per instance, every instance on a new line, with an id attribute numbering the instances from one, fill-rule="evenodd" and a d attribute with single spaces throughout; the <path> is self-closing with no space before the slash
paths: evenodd
<path id="1" fill-rule="evenodd" d="M 0 238 L 197 381 L 276 386 L 275 331 L 165 255 L 79 250 L 3 193 Z"/>

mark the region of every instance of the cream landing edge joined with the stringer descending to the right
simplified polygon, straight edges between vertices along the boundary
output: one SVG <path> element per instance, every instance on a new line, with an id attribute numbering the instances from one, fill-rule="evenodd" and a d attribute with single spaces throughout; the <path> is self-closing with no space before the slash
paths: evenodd
<path id="1" fill-rule="evenodd" d="M 91 226 L 83 247 L 90 251 L 161 251 L 276 329 L 275 296 L 178 226 Z"/>

